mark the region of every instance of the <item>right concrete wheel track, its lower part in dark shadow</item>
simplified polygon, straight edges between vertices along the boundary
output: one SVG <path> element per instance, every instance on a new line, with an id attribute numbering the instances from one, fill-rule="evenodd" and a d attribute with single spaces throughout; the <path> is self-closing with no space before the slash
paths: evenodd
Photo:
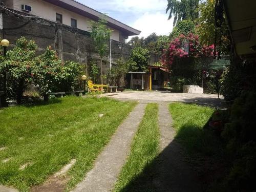
<path id="1" fill-rule="evenodd" d="M 182 155 L 180 144 L 174 140 L 175 130 L 172 127 L 168 105 L 159 105 L 159 127 L 161 133 L 159 163 L 157 164 L 158 177 L 153 180 L 158 191 L 197 191 L 201 186 L 195 173 L 191 170 Z"/>

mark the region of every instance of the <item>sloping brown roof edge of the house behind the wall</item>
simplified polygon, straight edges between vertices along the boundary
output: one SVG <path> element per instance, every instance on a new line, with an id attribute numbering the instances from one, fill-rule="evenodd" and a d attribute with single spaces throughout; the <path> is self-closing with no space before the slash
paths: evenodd
<path id="1" fill-rule="evenodd" d="M 56 5 L 58 7 L 62 7 L 64 9 L 70 10 L 82 16 L 91 18 L 93 20 L 98 20 L 100 17 L 105 16 L 103 13 L 96 11 L 74 0 L 44 0 L 44 1 L 51 3 L 53 5 Z M 139 35 L 141 33 L 141 31 L 134 29 L 130 26 L 127 26 L 110 16 L 105 16 L 104 18 L 108 21 L 109 27 L 120 30 L 127 36 Z"/>

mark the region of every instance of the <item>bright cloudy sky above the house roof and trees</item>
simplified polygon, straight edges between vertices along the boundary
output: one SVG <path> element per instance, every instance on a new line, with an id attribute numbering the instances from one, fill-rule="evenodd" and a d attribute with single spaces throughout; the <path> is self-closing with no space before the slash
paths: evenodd
<path id="1" fill-rule="evenodd" d="M 97 11 L 106 13 L 141 31 L 140 37 L 153 32 L 168 35 L 173 30 L 173 20 L 167 20 L 166 0 L 77 0 Z"/>

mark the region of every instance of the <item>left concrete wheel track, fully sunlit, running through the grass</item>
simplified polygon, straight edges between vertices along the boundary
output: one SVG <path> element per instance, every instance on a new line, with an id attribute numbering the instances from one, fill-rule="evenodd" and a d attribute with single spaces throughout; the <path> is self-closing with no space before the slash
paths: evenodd
<path id="1" fill-rule="evenodd" d="M 130 145 L 144 115 L 146 104 L 139 103 L 119 125 L 86 178 L 73 191 L 111 191 L 118 174 L 130 153 Z"/>

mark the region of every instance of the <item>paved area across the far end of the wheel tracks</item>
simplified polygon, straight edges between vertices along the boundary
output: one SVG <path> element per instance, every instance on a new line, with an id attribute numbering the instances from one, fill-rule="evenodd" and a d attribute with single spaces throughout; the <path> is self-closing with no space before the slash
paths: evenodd
<path id="1" fill-rule="evenodd" d="M 216 94 L 171 93 L 169 91 L 124 91 L 107 93 L 103 96 L 120 100 L 141 100 L 145 102 L 180 101 L 198 103 L 209 106 L 220 106 L 221 101 Z M 223 99 L 223 97 L 221 97 Z"/>

